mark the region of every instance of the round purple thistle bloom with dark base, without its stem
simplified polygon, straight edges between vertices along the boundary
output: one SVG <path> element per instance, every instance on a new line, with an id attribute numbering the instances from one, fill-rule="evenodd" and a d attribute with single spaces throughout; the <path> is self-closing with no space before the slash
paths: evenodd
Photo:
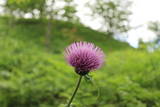
<path id="1" fill-rule="evenodd" d="M 104 56 L 100 48 L 88 42 L 75 42 L 65 51 L 66 60 L 75 67 L 79 75 L 85 75 L 91 70 L 100 68 L 104 62 Z"/>

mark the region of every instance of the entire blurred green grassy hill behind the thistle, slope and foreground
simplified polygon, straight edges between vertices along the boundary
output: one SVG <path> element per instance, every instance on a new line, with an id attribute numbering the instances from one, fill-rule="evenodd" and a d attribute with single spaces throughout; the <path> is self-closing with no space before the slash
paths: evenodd
<path id="1" fill-rule="evenodd" d="M 101 47 L 106 64 L 92 72 L 74 99 L 73 107 L 159 107 L 160 52 L 136 50 L 90 28 L 53 21 L 45 47 L 46 20 L 0 19 L 1 107 L 65 107 L 78 75 L 64 60 L 74 41 Z"/>

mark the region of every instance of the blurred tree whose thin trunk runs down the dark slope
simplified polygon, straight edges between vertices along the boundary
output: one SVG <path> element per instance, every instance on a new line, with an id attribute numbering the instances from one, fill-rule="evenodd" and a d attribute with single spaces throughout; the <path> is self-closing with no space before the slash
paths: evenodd
<path id="1" fill-rule="evenodd" d="M 51 31 L 53 29 L 52 23 L 53 19 L 65 20 L 70 22 L 78 21 L 78 18 L 75 16 L 77 12 L 75 9 L 75 5 L 73 4 L 73 0 L 61 0 L 65 5 L 62 7 L 56 7 L 55 4 L 59 0 L 49 0 L 49 3 L 46 4 L 45 13 L 48 19 L 46 26 L 46 34 L 45 34 L 45 46 L 48 48 L 50 46 L 50 38 L 52 35 Z M 63 14 L 60 14 L 60 13 Z"/>

